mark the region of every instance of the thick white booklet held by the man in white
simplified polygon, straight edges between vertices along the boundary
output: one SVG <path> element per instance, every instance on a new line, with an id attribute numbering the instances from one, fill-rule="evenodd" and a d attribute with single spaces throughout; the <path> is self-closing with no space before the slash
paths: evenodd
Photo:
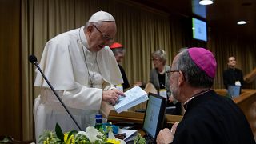
<path id="1" fill-rule="evenodd" d="M 119 102 L 114 106 L 118 114 L 149 99 L 146 91 L 139 86 L 134 86 L 132 89 L 127 90 L 125 94 L 126 96 L 120 97 Z"/>

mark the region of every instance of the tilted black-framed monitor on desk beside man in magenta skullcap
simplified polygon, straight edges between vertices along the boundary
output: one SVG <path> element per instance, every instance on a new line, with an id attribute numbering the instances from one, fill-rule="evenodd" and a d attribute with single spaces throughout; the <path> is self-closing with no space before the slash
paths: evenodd
<path id="1" fill-rule="evenodd" d="M 162 130 L 165 111 L 166 98 L 149 93 L 142 129 L 145 130 L 146 134 L 151 138 L 156 139 L 159 131 Z"/>

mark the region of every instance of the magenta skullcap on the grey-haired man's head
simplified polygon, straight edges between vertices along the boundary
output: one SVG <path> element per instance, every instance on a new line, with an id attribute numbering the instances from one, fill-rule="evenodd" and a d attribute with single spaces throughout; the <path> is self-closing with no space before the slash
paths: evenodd
<path id="1" fill-rule="evenodd" d="M 217 62 L 214 55 L 209 51 L 201 47 L 192 47 L 188 49 L 190 57 L 194 63 L 210 78 L 214 78 L 216 74 Z"/>

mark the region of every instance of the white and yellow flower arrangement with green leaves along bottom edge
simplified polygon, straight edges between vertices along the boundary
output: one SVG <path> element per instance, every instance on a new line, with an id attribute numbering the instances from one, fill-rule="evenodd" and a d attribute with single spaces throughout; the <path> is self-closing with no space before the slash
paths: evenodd
<path id="1" fill-rule="evenodd" d="M 55 126 L 55 131 L 45 130 L 39 136 L 40 144 L 124 144 L 121 139 L 115 138 L 111 126 L 102 126 L 100 129 L 95 129 L 93 126 L 86 128 L 86 131 L 70 130 L 63 133 L 58 123 Z M 145 138 L 140 134 L 134 138 L 134 143 L 145 144 Z"/>

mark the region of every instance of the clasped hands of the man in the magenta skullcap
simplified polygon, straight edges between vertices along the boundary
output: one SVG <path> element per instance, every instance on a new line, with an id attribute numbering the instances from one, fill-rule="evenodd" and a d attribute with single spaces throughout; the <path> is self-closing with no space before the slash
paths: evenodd
<path id="1" fill-rule="evenodd" d="M 158 137 L 157 137 L 157 143 L 158 144 L 166 144 L 166 143 L 173 142 L 174 134 L 175 134 L 177 126 L 178 126 L 178 122 L 175 122 L 170 130 L 167 128 L 160 130 Z"/>

